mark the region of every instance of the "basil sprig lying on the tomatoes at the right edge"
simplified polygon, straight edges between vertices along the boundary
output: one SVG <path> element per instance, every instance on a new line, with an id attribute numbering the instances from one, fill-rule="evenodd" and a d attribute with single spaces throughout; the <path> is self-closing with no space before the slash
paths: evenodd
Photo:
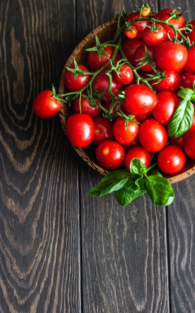
<path id="1" fill-rule="evenodd" d="M 180 137 L 187 132 L 192 125 L 195 108 L 191 101 L 195 101 L 195 84 L 193 89 L 182 88 L 178 92 L 182 100 L 168 124 L 168 136 L 170 138 Z"/>

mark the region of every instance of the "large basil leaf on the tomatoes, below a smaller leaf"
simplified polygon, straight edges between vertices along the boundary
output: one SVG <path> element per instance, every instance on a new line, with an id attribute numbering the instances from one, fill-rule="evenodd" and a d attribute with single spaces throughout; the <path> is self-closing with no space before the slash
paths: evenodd
<path id="1" fill-rule="evenodd" d="M 178 138 L 192 125 L 194 105 L 191 101 L 183 99 L 174 112 L 168 124 L 168 136 Z"/>

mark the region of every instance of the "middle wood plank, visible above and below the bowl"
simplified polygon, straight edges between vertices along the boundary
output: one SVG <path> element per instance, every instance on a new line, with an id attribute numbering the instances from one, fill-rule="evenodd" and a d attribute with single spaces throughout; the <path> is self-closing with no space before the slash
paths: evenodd
<path id="1" fill-rule="evenodd" d="M 156 10 L 157 2 L 151 2 Z M 135 8 L 133 1 L 103 6 L 81 1 L 80 37 L 115 17 L 123 4 L 128 11 Z M 84 162 L 81 169 L 83 311 L 168 312 L 165 208 L 153 205 L 147 195 L 128 207 L 117 204 L 113 195 L 90 197 L 86 191 L 102 176 Z"/>

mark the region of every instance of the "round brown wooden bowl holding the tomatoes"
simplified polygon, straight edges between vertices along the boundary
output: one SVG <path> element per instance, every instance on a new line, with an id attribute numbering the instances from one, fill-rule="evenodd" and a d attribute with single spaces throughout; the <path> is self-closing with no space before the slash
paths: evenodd
<path id="1" fill-rule="evenodd" d="M 59 84 L 59 93 L 63 94 L 67 92 L 64 86 L 64 72 L 65 72 L 65 66 L 71 66 L 74 63 L 74 58 L 76 59 L 77 63 L 81 63 L 83 65 L 87 66 L 87 51 L 85 49 L 95 45 L 95 35 L 97 34 L 99 37 L 100 42 L 109 41 L 112 40 L 115 34 L 117 28 L 117 22 L 116 19 L 111 19 L 110 21 L 107 21 L 106 23 L 100 25 L 99 27 L 95 28 L 93 31 L 91 31 L 74 49 L 72 54 L 69 56 L 68 60 L 66 61 L 66 64 L 64 65 L 60 84 Z M 69 115 L 72 114 L 72 109 L 67 104 L 64 104 L 64 107 L 61 108 L 59 112 L 60 122 L 62 125 L 62 128 L 66 134 L 66 120 Z M 72 145 L 73 146 L 73 145 Z M 80 155 L 80 157 L 87 162 L 88 165 L 90 165 L 92 168 L 97 170 L 103 175 L 106 175 L 109 170 L 101 167 L 95 157 L 95 145 L 91 144 L 85 148 L 77 148 L 73 146 L 74 150 Z M 166 177 L 170 183 L 175 183 L 178 181 L 181 181 L 190 175 L 195 173 L 195 159 L 191 159 L 189 157 L 186 158 L 186 164 L 184 168 L 175 175 L 168 175 L 164 174 L 164 177 Z"/>

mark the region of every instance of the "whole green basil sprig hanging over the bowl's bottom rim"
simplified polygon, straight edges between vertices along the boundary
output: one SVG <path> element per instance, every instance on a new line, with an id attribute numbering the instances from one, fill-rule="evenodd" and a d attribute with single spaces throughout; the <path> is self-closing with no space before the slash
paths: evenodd
<path id="1" fill-rule="evenodd" d="M 155 165 L 147 168 L 140 159 L 133 158 L 130 171 L 117 169 L 109 172 L 87 194 L 102 196 L 114 192 L 119 204 L 128 205 L 138 196 L 148 193 L 154 204 L 169 205 L 174 200 L 174 190 L 170 182 L 154 168 Z"/>

